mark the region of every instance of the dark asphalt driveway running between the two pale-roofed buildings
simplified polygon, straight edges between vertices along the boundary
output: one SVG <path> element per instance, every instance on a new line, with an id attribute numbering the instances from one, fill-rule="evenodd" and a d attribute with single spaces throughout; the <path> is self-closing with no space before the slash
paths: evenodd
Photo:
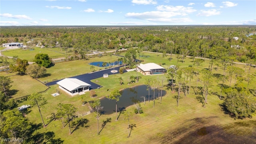
<path id="1" fill-rule="evenodd" d="M 115 70 L 117 70 L 117 72 L 115 74 L 119 73 L 119 68 L 121 68 L 121 67 L 123 67 L 123 66 L 115 67 Z M 100 71 L 92 72 L 92 73 L 88 73 L 88 74 L 82 74 L 80 76 L 73 76 L 73 77 L 70 77 L 70 78 L 77 78 L 78 80 L 82 80 L 83 82 L 86 82 L 86 83 L 92 85 L 92 86 L 90 86 L 90 88 L 96 89 L 96 88 L 102 87 L 102 86 L 100 86 L 98 84 L 95 84 L 94 82 L 91 82 L 91 80 L 103 77 L 103 74 L 111 75 L 111 74 L 113 74 L 112 72 L 110 72 L 111 70 L 113 70 L 113 68 L 100 70 Z M 127 72 L 127 71 L 124 70 L 124 72 Z M 52 85 L 56 84 L 56 82 L 59 82 L 59 81 L 60 80 L 56 80 L 56 81 L 53 81 L 53 82 L 48 82 L 48 83 L 46 83 L 46 85 L 47 86 L 52 86 Z"/>

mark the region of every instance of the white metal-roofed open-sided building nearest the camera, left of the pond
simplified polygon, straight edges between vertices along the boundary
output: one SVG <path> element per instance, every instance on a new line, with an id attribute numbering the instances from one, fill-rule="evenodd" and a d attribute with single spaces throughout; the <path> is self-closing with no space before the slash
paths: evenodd
<path id="1" fill-rule="evenodd" d="M 76 78 L 65 78 L 59 82 L 57 82 L 59 88 L 71 96 L 79 94 L 80 92 L 87 92 L 90 90 L 90 84 L 78 80 Z"/>

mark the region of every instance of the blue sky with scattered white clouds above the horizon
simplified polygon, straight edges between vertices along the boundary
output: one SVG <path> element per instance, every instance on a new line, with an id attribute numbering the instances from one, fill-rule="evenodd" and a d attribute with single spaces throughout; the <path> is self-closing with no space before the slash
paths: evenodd
<path id="1" fill-rule="evenodd" d="M 256 0 L 0 0 L 0 26 L 256 25 Z"/>

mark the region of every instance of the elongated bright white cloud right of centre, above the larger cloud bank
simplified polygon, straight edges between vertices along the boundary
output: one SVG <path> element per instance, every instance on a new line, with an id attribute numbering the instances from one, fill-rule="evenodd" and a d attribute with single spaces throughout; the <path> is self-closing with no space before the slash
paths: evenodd
<path id="1" fill-rule="evenodd" d="M 184 7 L 184 6 L 160 5 L 160 6 L 157 6 L 156 9 L 160 11 L 167 11 L 167 12 L 185 12 L 185 13 L 196 12 L 196 10 L 194 10 L 192 7 Z"/>

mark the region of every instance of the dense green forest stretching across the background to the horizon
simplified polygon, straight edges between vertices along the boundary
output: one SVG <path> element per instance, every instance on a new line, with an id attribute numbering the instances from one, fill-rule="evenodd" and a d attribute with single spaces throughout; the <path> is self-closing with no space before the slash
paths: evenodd
<path id="1" fill-rule="evenodd" d="M 33 44 L 72 48 L 74 53 L 137 47 L 240 62 L 256 59 L 256 35 L 248 36 L 256 26 L 6 26 L 0 31 L 1 44 L 33 39 Z"/>

